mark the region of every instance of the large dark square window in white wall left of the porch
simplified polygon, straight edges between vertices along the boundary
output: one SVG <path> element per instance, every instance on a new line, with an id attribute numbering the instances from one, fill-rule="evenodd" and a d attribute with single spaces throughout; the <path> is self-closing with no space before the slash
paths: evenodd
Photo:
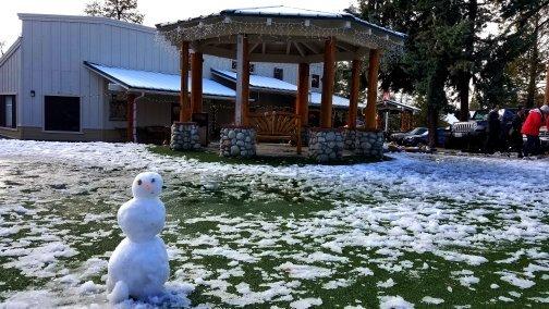
<path id="1" fill-rule="evenodd" d="M 44 97 L 44 129 L 80 132 L 80 119 L 78 97 Z"/>

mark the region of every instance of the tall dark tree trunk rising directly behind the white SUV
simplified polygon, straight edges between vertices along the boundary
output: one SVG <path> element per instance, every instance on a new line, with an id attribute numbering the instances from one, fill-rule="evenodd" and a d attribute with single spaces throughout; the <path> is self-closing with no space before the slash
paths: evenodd
<path id="1" fill-rule="evenodd" d="M 467 20 L 468 20 L 468 34 L 465 38 L 465 60 L 473 63 L 473 53 L 475 51 L 475 23 L 478 12 L 477 0 L 471 0 L 467 5 Z M 460 74 L 460 81 L 457 82 L 457 91 L 460 92 L 460 121 L 468 120 L 469 111 L 469 82 L 472 76 L 472 70 L 466 69 Z"/>

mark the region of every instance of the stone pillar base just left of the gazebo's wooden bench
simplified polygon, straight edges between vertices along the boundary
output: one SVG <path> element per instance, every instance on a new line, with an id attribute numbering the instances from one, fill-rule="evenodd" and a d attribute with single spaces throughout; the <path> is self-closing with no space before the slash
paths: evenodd
<path id="1" fill-rule="evenodd" d="M 251 158 L 256 154 L 256 132 L 252 127 L 223 127 L 219 156 Z"/>

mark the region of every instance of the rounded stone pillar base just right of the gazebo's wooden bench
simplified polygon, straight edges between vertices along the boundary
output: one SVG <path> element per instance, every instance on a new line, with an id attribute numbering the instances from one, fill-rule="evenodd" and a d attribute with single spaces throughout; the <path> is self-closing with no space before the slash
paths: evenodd
<path id="1" fill-rule="evenodd" d="M 326 163 L 343 157 L 343 131 L 337 128 L 312 128 L 309 131 L 309 158 Z"/>

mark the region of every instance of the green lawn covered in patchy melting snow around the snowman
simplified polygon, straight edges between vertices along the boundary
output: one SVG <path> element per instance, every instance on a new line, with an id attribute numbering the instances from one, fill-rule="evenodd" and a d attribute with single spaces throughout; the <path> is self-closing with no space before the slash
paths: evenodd
<path id="1" fill-rule="evenodd" d="M 173 283 L 195 283 L 205 306 L 332 306 L 317 287 L 341 295 L 369 285 L 363 300 L 411 308 L 406 294 L 383 295 L 402 276 L 467 268 L 449 275 L 460 282 L 448 286 L 453 297 L 492 282 L 487 269 L 513 288 L 549 279 L 549 161 L 390 156 L 349 166 L 269 166 L 159 156 L 135 144 L 0 140 L 1 265 L 28 281 L 0 276 L 9 286 L 1 296 L 101 306 L 107 260 L 121 236 L 115 212 L 144 170 L 166 180 L 162 236 Z M 442 276 L 437 291 L 448 282 Z M 508 295 L 508 286 L 490 288 Z M 530 292 L 521 302 L 547 298 Z M 166 304 L 190 304 L 187 292 L 173 295 Z M 427 297 L 424 304 L 438 299 Z M 490 297 L 475 300 L 505 301 Z M 296 302 L 304 299 L 315 300 Z"/>

